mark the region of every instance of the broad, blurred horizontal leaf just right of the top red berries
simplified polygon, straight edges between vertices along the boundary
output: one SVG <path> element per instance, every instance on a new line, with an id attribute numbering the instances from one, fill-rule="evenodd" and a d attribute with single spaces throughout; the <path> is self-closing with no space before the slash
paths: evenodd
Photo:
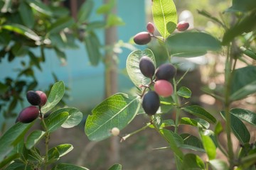
<path id="1" fill-rule="evenodd" d="M 207 33 L 184 32 L 171 35 L 166 40 L 171 55 L 176 57 L 196 57 L 208 51 L 220 50 L 220 41 Z"/>

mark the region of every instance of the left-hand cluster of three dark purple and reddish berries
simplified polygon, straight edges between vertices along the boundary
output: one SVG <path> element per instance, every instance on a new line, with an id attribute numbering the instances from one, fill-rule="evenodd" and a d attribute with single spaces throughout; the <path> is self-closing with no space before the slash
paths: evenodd
<path id="1" fill-rule="evenodd" d="M 38 118 L 41 106 L 44 106 L 47 101 L 47 96 L 43 91 L 28 91 L 26 98 L 32 106 L 24 108 L 19 114 L 16 122 L 31 123 Z"/>

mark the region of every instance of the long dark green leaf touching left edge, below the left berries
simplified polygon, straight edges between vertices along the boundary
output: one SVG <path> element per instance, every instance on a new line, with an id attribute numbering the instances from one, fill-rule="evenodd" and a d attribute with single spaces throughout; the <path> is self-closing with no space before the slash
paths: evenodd
<path id="1" fill-rule="evenodd" d="M 16 123 L 0 138 L 0 162 L 11 152 L 12 149 L 23 140 L 26 132 L 33 123 Z"/>

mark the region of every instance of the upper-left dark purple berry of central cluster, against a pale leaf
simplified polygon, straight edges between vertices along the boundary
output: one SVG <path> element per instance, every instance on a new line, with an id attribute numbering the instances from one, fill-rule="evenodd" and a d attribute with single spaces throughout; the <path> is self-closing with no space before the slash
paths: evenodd
<path id="1" fill-rule="evenodd" d="M 151 58 L 143 56 L 139 61 L 139 69 L 145 77 L 152 78 L 154 76 L 155 67 Z"/>

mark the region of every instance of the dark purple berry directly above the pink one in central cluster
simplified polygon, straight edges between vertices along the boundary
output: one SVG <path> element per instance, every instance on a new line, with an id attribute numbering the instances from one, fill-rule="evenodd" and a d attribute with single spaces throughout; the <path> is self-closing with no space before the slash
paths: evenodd
<path id="1" fill-rule="evenodd" d="M 176 75 L 176 68 L 169 63 L 161 64 L 161 66 L 159 66 L 156 69 L 156 80 L 164 79 L 164 80 L 170 81 L 175 77 L 175 75 Z"/>

